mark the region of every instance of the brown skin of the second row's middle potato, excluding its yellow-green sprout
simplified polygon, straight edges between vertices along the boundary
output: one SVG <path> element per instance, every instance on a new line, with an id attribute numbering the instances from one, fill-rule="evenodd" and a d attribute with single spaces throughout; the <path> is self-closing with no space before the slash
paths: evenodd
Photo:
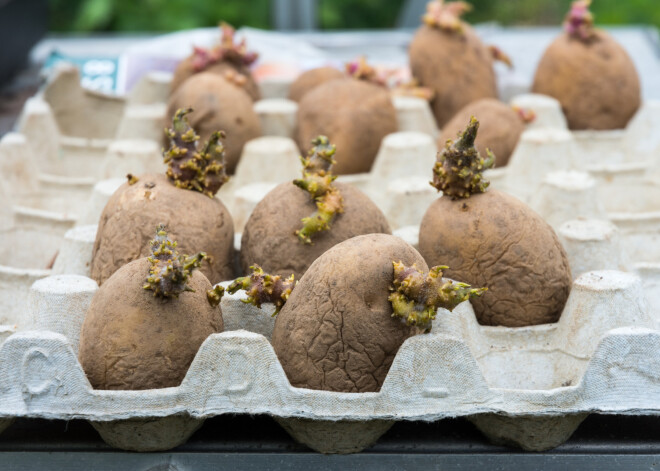
<path id="1" fill-rule="evenodd" d="M 344 198 L 344 212 L 337 214 L 328 231 L 312 236 L 303 244 L 295 235 L 301 219 L 316 211 L 309 193 L 291 182 L 271 190 L 252 211 L 241 239 L 241 266 L 244 273 L 258 264 L 267 273 L 293 274 L 296 280 L 322 253 L 338 243 L 362 234 L 390 234 L 387 219 L 360 190 L 336 183 Z"/>

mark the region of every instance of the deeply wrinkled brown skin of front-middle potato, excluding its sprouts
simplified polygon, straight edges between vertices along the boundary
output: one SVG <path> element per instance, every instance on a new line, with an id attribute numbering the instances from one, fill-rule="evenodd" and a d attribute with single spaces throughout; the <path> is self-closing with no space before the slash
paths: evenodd
<path id="1" fill-rule="evenodd" d="M 401 344 L 421 333 L 392 317 L 393 261 L 428 268 L 398 237 L 369 234 L 319 257 L 275 319 L 273 348 L 292 386 L 379 391 Z"/>

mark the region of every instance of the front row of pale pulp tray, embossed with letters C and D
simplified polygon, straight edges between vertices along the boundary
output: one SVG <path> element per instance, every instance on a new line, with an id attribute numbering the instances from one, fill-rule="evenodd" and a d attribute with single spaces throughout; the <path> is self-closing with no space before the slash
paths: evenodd
<path id="1" fill-rule="evenodd" d="M 630 273 L 578 277 L 556 324 L 481 326 L 469 303 L 441 310 L 430 334 L 403 344 L 373 393 L 292 387 L 268 341 L 273 306 L 245 304 L 242 292 L 222 299 L 226 331 L 207 338 L 180 386 L 93 390 L 76 355 L 96 290 L 81 275 L 32 286 L 31 330 L 0 347 L 4 420 L 86 419 L 114 447 L 153 451 L 183 443 L 207 417 L 269 414 L 317 451 L 352 453 L 397 420 L 467 416 L 494 441 L 541 450 L 588 413 L 660 414 L 658 320 Z"/>

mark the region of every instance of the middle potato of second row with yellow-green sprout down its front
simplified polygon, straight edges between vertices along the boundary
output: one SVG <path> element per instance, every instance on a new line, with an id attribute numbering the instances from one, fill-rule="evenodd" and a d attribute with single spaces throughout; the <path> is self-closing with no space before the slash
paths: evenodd
<path id="1" fill-rule="evenodd" d="M 243 272 L 257 264 L 299 279 L 333 245 L 361 234 L 391 232 L 366 195 L 334 182 L 335 155 L 329 139 L 318 136 L 303 159 L 303 178 L 278 185 L 257 204 L 243 230 Z"/>

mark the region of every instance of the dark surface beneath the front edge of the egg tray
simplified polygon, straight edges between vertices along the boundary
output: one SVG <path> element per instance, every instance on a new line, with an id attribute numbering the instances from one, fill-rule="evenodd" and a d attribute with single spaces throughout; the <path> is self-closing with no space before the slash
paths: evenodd
<path id="1" fill-rule="evenodd" d="M 465 419 L 399 422 L 355 455 L 321 455 L 295 443 L 267 416 L 207 420 L 168 452 L 113 450 L 85 421 L 17 420 L 0 435 L 0 469 L 188 471 L 211 469 L 656 469 L 660 419 L 592 415 L 545 453 L 491 445 Z"/>

